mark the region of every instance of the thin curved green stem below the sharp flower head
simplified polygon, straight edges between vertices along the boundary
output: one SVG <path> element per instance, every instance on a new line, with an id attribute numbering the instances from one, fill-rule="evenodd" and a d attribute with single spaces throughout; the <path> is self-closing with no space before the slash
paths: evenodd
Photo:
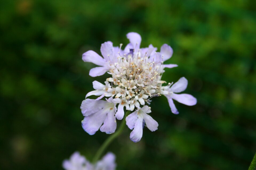
<path id="1" fill-rule="evenodd" d="M 93 163 L 96 163 L 97 160 L 99 160 L 99 158 L 101 157 L 102 153 L 103 153 L 104 150 L 107 148 L 107 146 L 109 146 L 110 143 L 111 143 L 115 138 L 117 138 L 117 137 L 121 134 L 121 132 L 123 131 L 123 128 L 125 127 L 125 118 L 127 117 L 127 115 L 128 115 L 129 112 L 130 112 L 130 111 L 127 111 L 127 112 L 125 113 L 125 116 L 123 117 L 123 120 L 122 120 L 122 122 L 121 122 L 121 125 L 119 126 L 119 129 L 118 129 L 115 133 L 111 134 L 111 135 L 105 140 L 105 142 L 101 145 L 101 147 L 98 149 L 98 151 L 96 152 L 96 154 L 95 154 L 95 156 L 94 156 L 94 158 L 93 158 Z"/>

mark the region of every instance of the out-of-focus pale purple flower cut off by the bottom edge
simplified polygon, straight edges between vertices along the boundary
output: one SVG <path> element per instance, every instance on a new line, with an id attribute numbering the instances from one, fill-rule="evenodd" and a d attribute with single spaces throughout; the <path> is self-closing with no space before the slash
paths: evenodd
<path id="1" fill-rule="evenodd" d="M 115 155 L 109 152 L 97 163 L 91 164 L 79 152 L 75 152 L 69 160 L 63 161 L 62 167 L 65 170 L 114 170 L 116 168 Z"/>

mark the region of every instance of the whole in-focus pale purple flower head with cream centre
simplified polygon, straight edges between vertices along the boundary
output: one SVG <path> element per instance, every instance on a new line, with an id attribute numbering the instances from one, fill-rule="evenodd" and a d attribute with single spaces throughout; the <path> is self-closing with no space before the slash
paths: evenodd
<path id="1" fill-rule="evenodd" d="M 147 48 L 140 48 L 141 36 L 138 33 L 130 32 L 127 38 L 130 43 L 124 50 L 121 49 L 122 44 L 113 47 L 110 41 L 103 43 L 103 58 L 91 50 L 83 54 L 83 61 L 100 66 L 91 69 L 90 76 L 96 77 L 106 72 L 111 76 L 106 79 L 105 84 L 93 82 L 95 90 L 89 92 L 86 98 L 91 95 L 99 97 L 95 100 L 83 100 L 81 110 L 85 118 L 82 127 L 90 135 L 99 129 L 107 134 L 114 133 L 117 127 L 116 119 L 123 119 L 124 108 L 135 110 L 126 117 L 126 124 L 133 129 L 130 134 L 131 140 L 138 142 L 142 138 L 145 124 L 151 131 L 158 128 L 158 123 L 148 115 L 151 110 L 146 105 L 150 104 L 152 97 L 166 96 L 174 114 L 179 112 L 173 99 L 186 105 L 195 105 L 197 99 L 189 94 L 176 94 L 187 87 L 187 79 L 184 77 L 174 84 L 163 85 L 166 83 L 161 80 L 164 69 L 178 66 L 164 64 L 173 54 L 173 49 L 169 45 L 162 45 L 160 52 L 157 52 L 157 48 L 151 44 Z M 103 97 L 106 97 L 106 100 L 100 100 Z"/>

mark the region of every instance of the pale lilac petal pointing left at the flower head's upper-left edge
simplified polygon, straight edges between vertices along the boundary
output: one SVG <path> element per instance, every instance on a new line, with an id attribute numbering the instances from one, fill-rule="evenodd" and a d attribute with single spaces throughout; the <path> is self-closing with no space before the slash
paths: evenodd
<path id="1" fill-rule="evenodd" d="M 106 61 L 101 56 L 99 56 L 99 54 L 92 50 L 83 53 L 82 60 L 84 62 L 92 62 L 98 66 L 104 66 L 106 63 Z"/>

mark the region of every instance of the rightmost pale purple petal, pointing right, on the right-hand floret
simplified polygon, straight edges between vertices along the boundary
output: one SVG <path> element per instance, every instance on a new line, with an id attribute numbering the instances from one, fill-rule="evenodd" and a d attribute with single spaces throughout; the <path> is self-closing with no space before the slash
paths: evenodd
<path id="1" fill-rule="evenodd" d="M 192 95 L 189 94 L 171 94 L 171 98 L 174 100 L 177 100 L 179 103 L 188 105 L 188 106 L 193 106 L 197 104 L 197 99 L 193 97 Z"/>

